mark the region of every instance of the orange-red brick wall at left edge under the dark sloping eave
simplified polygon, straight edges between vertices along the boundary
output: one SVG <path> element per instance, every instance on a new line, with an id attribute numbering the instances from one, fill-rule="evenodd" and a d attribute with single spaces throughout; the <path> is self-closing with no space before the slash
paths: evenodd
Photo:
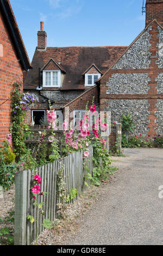
<path id="1" fill-rule="evenodd" d="M 3 48 L 0 54 L 0 142 L 4 141 L 9 133 L 11 124 L 10 92 L 14 82 L 23 81 L 23 71 L 16 57 L 16 52 L 4 25 L 0 11 L 0 45 Z"/>

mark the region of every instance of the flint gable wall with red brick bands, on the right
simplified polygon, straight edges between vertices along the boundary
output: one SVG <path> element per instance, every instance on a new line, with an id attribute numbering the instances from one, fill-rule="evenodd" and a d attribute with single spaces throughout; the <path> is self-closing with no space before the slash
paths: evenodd
<path id="1" fill-rule="evenodd" d="M 163 135 L 162 32 L 153 21 L 101 78 L 101 110 L 111 111 L 114 121 L 120 121 L 122 113 L 130 113 L 136 134 Z M 137 55 L 132 54 L 135 49 L 139 49 L 136 68 Z"/>

